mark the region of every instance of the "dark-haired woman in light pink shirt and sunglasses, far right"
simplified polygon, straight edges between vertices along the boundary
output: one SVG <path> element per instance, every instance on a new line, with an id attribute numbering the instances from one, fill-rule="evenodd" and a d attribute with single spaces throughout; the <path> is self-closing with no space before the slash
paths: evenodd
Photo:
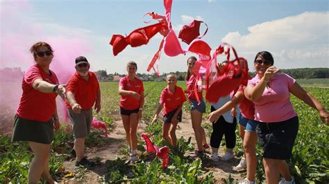
<path id="1" fill-rule="evenodd" d="M 256 132 L 264 149 L 263 164 L 267 183 L 294 183 L 286 159 L 298 132 L 298 117 L 290 102 L 290 93 L 319 111 L 321 120 L 328 124 L 328 111 L 307 93 L 292 77 L 279 73 L 273 66 L 271 53 L 262 51 L 255 57 L 257 75 L 248 81 L 244 94 L 255 104 Z"/>

